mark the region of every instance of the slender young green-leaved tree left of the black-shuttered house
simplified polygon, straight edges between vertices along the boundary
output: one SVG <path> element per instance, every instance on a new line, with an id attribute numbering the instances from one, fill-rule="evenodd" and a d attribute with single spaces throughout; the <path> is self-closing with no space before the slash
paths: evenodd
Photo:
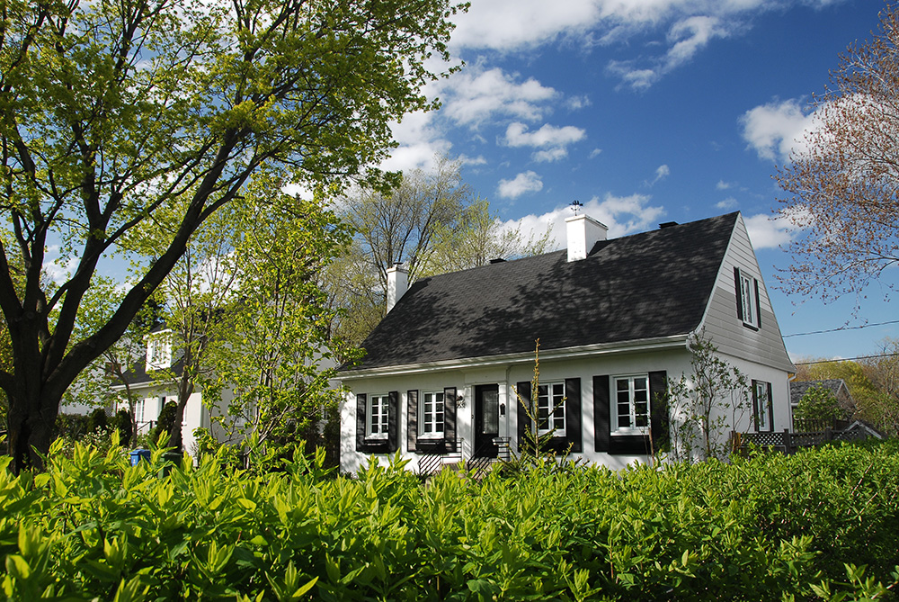
<path id="1" fill-rule="evenodd" d="M 222 336 L 210 341 L 216 382 L 206 391 L 210 403 L 214 390 L 227 391 L 217 420 L 232 441 L 314 444 L 325 418 L 337 416 L 329 386 L 336 360 L 352 355 L 330 337 L 333 315 L 320 287 L 350 233 L 321 202 L 271 202 L 272 190 L 271 181 L 255 183 L 236 220 L 243 236 L 229 258 L 239 286 Z"/>

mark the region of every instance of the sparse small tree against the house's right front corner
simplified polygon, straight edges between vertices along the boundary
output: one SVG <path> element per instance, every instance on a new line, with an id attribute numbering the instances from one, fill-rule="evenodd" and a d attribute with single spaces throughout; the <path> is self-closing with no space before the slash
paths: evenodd
<path id="1" fill-rule="evenodd" d="M 668 382 L 671 418 L 665 451 L 676 461 L 723 459 L 730 452 L 727 433 L 749 410 L 749 382 L 708 338 L 693 335 L 688 346 L 690 374 Z"/>

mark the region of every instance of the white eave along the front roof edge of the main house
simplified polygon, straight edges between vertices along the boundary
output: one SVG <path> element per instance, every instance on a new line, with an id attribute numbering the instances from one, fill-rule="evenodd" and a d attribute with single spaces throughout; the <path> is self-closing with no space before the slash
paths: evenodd
<path id="1" fill-rule="evenodd" d="M 672 335 L 668 337 L 641 338 L 617 343 L 599 343 L 595 345 L 563 347 L 559 349 L 541 349 L 541 360 L 572 359 L 581 357 L 593 357 L 598 355 L 610 355 L 617 353 L 639 353 L 643 351 L 658 351 L 686 347 L 689 335 Z M 361 370 L 349 370 L 339 373 L 337 378 L 341 381 L 355 381 L 372 376 L 396 376 L 399 374 L 427 373 L 433 370 L 452 370 L 459 368 L 485 368 L 496 365 L 529 364 L 534 361 L 534 352 L 485 355 L 482 357 L 464 357 L 453 360 L 441 360 L 438 362 L 423 362 L 420 364 L 404 364 L 381 366 Z"/>

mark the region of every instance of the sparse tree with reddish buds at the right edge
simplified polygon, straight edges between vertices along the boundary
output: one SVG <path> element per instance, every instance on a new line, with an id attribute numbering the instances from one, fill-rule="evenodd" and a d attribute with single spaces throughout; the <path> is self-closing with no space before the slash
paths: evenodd
<path id="1" fill-rule="evenodd" d="M 787 292 L 861 299 L 899 263 L 899 7 L 873 40 L 850 46 L 815 96 L 814 127 L 777 179 L 779 214 L 797 229 Z M 892 287 L 885 287 L 887 291 Z"/>

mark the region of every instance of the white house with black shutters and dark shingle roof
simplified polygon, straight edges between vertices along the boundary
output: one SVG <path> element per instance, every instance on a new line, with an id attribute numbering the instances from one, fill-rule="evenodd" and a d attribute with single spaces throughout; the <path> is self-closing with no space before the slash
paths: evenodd
<path id="1" fill-rule="evenodd" d="M 752 412 L 731 427 L 791 427 L 795 368 L 739 213 L 615 239 L 590 217 L 566 221 L 567 250 L 407 291 L 403 268 L 390 270 L 387 317 L 340 373 L 343 471 L 397 450 L 413 470 L 429 454 L 490 457 L 504 441 L 514 451 L 529 427 L 516 391 L 536 397 L 557 449 L 614 469 L 645 461 L 669 418 L 650 400 L 690 374 L 699 332 L 752 380 Z"/>

